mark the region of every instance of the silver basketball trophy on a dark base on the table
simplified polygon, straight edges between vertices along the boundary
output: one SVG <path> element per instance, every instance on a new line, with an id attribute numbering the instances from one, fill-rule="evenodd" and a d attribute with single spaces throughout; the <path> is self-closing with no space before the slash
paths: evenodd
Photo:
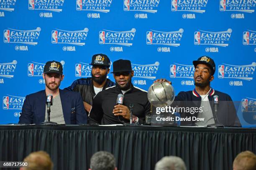
<path id="1" fill-rule="evenodd" d="M 175 93 L 174 88 L 168 82 L 154 82 L 148 88 L 148 101 L 151 104 L 150 114 L 146 115 L 147 125 L 159 125 L 164 124 L 163 122 L 156 121 L 156 117 L 164 116 L 156 114 L 156 107 L 170 106 L 174 101 Z M 174 116 L 167 114 L 168 116 Z M 170 123 L 169 123 L 170 124 Z M 173 124 L 173 122 L 171 123 Z"/>

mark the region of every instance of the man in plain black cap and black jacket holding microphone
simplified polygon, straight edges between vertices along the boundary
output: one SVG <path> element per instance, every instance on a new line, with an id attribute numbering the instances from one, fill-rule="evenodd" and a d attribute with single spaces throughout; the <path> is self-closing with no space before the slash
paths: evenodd
<path id="1" fill-rule="evenodd" d="M 132 122 L 143 124 L 146 114 L 150 112 L 147 92 L 133 86 L 131 79 L 134 72 L 130 60 L 113 62 L 113 76 L 116 86 L 109 87 L 95 96 L 88 122 L 103 125 L 129 122 L 133 110 Z M 118 96 L 122 96 L 117 104 Z"/>

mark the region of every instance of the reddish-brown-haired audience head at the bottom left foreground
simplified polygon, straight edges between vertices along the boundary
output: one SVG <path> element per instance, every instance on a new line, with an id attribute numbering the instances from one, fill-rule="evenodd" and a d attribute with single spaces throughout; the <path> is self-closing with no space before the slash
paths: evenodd
<path id="1" fill-rule="evenodd" d="M 50 155 L 44 151 L 33 152 L 29 154 L 24 162 L 28 163 L 27 167 L 23 167 L 24 170 L 52 170 L 53 163 Z"/>

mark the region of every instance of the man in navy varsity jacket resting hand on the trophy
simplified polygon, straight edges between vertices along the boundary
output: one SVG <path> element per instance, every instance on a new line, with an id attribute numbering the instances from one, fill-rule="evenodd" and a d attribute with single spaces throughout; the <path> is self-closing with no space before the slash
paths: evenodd
<path id="1" fill-rule="evenodd" d="M 198 60 L 193 61 L 195 66 L 194 81 L 195 89 L 187 92 L 179 92 L 175 97 L 172 104 L 173 107 L 178 105 L 179 107 L 197 107 L 200 108 L 195 112 L 179 112 L 181 118 L 181 125 L 192 125 L 192 126 L 206 126 L 214 123 L 220 123 L 224 126 L 241 126 L 241 123 L 236 115 L 236 109 L 231 97 L 228 94 L 219 92 L 210 87 L 210 82 L 214 79 L 215 73 L 215 62 L 212 58 L 202 56 Z M 167 80 L 156 80 L 156 81 L 167 81 Z M 169 82 L 169 81 L 167 81 Z M 171 83 L 171 82 L 169 82 Z M 217 119 L 215 122 L 213 118 L 213 97 L 218 95 L 218 112 Z M 193 113 L 193 114 L 192 114 Z M 190 119 L 188 119 L 190 117 Z M 194 117 L 194 120 L 193 120 Z M 198 120 L 195 120 L 195 117 Z M 199 120 L 201 118 L 201 120 Z"/>

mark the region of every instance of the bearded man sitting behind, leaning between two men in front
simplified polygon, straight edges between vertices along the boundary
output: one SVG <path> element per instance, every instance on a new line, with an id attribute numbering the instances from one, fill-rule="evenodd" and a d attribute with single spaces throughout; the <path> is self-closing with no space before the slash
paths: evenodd
<path id="1" fill-rule="evenodd" d="M 105 88 L 115 85 L 114 82 L 107 78 L 110 70 L 110 59 L 107 55 L 93 55 L 90 65 L 92 65 L 92 77 L 77 79 L 69 87 L 65 88 L 65 90 L 81 94 L 87 115 L 92 108 L 92 100 L 95 95 Z M 81 72 L 81 68 L 77 66 L 76 71 Z"/>

